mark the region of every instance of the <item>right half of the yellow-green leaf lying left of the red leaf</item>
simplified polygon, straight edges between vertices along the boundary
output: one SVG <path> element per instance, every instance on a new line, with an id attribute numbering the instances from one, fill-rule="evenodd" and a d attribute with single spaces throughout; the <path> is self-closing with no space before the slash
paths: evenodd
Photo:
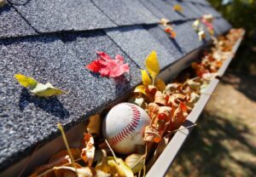
<path id="1" fill-rule="evenodd" d="M 44 97 L 49 97 L 58 94 L 66 94 L 66 92 L 62 91 L 61 89 L 54 88 L 50 83 L 38 83 L 36 88 L 33 88 L 31 92 L 32 94 Z"/>

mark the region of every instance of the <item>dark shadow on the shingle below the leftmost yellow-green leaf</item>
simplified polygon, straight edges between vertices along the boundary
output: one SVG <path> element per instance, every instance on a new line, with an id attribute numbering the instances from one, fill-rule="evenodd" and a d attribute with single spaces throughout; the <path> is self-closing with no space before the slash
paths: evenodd
<path id="1" fill-rule="evenodd" d="M 55 117 L 69 117 L 69 111 L 67 111 L 61 101 L 56 97 L 39 98 L 38 96 L 28 93 L 26 88 L 22 88 L 19 100 L 20 111 L 24 111 L 26 106 L 31 103 Z"/>

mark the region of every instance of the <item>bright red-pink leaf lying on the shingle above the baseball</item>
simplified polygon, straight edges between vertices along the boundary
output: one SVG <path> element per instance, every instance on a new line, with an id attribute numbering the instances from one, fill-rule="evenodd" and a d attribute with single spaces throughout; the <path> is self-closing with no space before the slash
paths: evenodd
<path id="1" fill-rule="evenodd" d="M 99 72 L 102 77 L 119 77 L 125 72 L 130 71 L 128 64 L 124 64 L 124 58 L 120 54 L 117 54 L 115 59 L 112 59 L 104 52 L 97 52 L 96 54 L 101 58 L 85 66 L 90 71 Z"/>

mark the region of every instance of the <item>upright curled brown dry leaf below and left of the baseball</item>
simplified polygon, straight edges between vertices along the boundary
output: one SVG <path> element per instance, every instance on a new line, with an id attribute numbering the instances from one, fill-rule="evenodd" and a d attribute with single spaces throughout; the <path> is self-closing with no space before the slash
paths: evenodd
<path id="1" fill-rule="evenodd" d="M 94 140 L 91 134 L 84 134 L 84 148 L 81 152 L 81 157 L 84 163 L 88 163 L 91 166 L 95 155 Z"/>

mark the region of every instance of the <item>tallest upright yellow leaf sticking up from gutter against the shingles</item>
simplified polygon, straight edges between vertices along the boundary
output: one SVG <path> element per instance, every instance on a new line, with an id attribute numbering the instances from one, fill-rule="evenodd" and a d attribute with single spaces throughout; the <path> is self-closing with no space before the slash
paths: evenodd
<path id="1" fill-rule="evenodd" d="M 145 66 L 154 81 L 155 77 L 160 72 L 157 54 L 154 50 L 148 55 L 147 59 L 145 60 Z"/>

